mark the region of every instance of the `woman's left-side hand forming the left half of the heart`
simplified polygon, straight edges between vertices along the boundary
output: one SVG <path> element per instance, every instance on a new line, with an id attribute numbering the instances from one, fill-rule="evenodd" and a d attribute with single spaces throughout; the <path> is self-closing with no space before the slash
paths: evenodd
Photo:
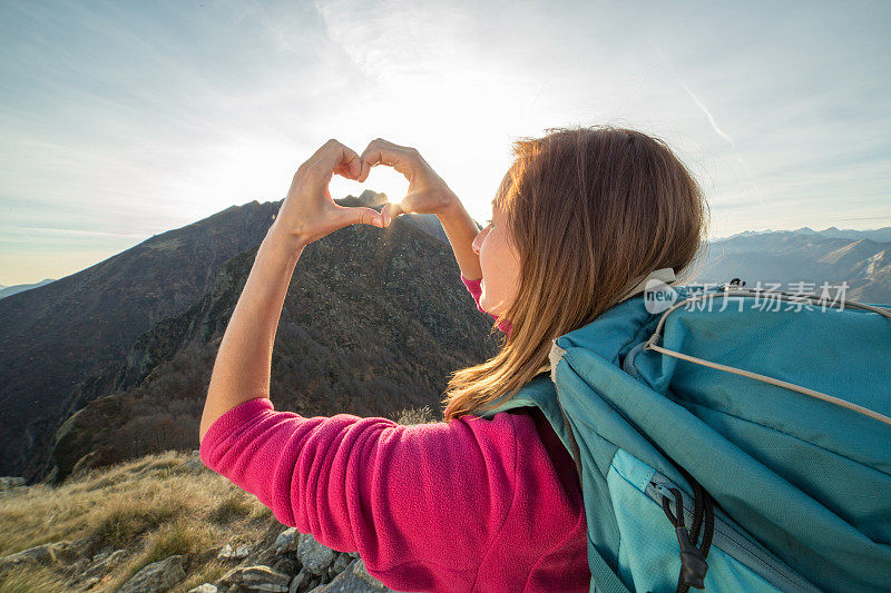
<path id="1" fill-rule="evenodd" d="M 352 149 L 337 140 L 329 140 L 294 174 L 287 197 L 270 230 L 300 248 L 356 223 L 384 226 L 383 217 L 374 208 L 339 206 L 327 189 L 334 174 L 363 180 L 368 170 Z"/>

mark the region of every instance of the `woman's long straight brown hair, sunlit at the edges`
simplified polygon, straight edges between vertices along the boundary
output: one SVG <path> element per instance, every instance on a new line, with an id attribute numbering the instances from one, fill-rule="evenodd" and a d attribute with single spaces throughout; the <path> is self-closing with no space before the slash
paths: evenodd
<path id="1" fill-rule="evenodd" d="M 681 277 L 702 254 L 708 205 L 668 145 L 646 134 L 593 126 L 549 128 L 511 147 L 505 211 L 520 283 L 498 354 L 457 370 L 446 422 L 512 397 L 550 370 L 551 340 L 593 322 L 659 268 Z"/>

